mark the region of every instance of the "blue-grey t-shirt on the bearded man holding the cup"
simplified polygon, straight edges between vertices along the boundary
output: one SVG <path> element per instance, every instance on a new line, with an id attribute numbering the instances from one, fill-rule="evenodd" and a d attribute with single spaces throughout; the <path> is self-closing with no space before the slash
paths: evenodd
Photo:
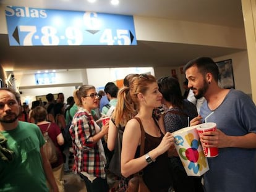
<path id="1" fill-rule="evenodd" d="M 212 111 L 205 102 L 200 110 L 203 120 Z M 256 107 L 242 91 L 231 89 L 221 105 L 208 117 L 226 135 L 256 133 Z M 210 170 L 204 175 L 207 192 L 255 192 L 256 149 L 220 148 L 217 157 L 208 158 Z"/>

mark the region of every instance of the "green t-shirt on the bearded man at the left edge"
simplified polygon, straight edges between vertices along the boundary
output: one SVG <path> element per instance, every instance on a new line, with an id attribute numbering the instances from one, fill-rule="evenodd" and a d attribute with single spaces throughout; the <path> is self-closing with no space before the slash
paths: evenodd
<path id="1" fill-rule="evenodd" d="M 1 131 L 7 146 L 14 151 L 14 160 L 0 159 L 0 191 L 49 191 L 43 170 L 40 148 L 45 144 L 40 128 L 33 123 L 19 122 L 11 131 Z"/>

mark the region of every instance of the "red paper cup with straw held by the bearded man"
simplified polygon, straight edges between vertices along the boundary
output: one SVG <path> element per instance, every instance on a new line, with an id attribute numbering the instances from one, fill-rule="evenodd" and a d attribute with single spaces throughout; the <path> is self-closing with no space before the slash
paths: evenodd
<path id="1" fill-rule="evenodd" d="M 206 131 L 217 131 L 216 123 L 202 123 L 200 125 L 197 125 L 198 135 L 201 135 Z M 216 157 L 219 154 L 218 148 L 205 148 L 204 146 L 202 146 L 202 148 L 205 157 Z"/>

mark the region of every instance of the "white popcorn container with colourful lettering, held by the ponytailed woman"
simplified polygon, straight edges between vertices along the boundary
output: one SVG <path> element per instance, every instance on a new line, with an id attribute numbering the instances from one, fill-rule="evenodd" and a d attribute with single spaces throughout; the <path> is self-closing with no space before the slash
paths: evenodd
<path id="1" fill-rule="evenodd" d="M 209 170 L 197 133 L 197 125 L 174 131 L 175 148 L 189 176 L 201 176 Z"/>

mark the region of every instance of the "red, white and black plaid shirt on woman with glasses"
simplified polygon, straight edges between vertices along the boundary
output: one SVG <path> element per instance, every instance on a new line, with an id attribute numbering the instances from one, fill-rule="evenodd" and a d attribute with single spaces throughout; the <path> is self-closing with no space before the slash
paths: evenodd
<path id="1" fill-rule="evenodd" d="M 98 144 L 93 144 L 92 136 L 96 135 L 92 114 L 80 108 L 74 115 L 69 128 L 74 149 L 75 162 L 73 171 L 87 172 L 95 177 L 106 178 L 104 162 L 100 157 Z"/>

